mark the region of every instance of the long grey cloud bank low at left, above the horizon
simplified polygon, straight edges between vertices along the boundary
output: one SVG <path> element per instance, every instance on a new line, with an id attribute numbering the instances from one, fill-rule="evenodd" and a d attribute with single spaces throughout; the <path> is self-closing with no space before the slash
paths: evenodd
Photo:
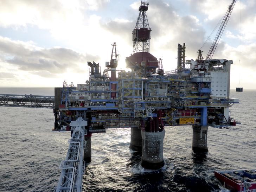
<path id="1" fill-rule="evenodd" d="M 30 43 L 12 41 L 0 37 L 1 60 L 13 64 L 23 71 L 34 72 L 40 76 L 64 73 L 69 70 L 84 72 L 79 69 L 79 64 L 87 61 L 98 60 L 97 56 L 75 52 L 65 48 L 38 48 Z"/>

